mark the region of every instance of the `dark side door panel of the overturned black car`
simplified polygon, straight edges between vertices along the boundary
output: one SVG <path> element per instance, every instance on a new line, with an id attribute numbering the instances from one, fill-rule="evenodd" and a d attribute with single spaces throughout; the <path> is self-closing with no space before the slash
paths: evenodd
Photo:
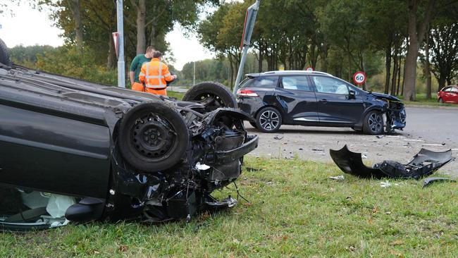
<path id="1" fill-rule="evenodd" d="M 18 105 L 0 102 L 0 185 L 105 198 L 109 128 Z"/>

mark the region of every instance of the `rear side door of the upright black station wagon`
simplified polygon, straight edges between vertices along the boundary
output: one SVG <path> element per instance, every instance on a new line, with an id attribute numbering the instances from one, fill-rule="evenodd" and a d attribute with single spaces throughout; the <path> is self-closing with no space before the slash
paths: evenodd
<path id="1" fill-rule="evenodd" d="M 276 97 L 285 110 L 284 123 L 317 123 L 316 96 L 307 75 L 280 77 Z"/>

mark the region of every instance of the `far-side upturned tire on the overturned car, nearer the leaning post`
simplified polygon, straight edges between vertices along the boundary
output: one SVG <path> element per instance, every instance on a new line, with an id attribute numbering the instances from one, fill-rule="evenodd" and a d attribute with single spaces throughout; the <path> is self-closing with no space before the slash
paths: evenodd
<path id="1" fill-rule="evenodd" d="M 200 102 L 206 106 L 206 111 L 223 107 L 237 107 L 237 101 L 232 92 L 218 82 L 201 82 L 194 85 L 185 93 L 182 100 Z"/>

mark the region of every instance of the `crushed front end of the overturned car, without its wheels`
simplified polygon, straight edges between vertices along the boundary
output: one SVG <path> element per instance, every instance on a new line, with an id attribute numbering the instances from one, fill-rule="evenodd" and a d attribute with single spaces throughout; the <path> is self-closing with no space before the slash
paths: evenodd
<path id="1" fill-rule="evenodd" d="M 188 109 L 180 113 L 190 140 L 182 159 L 171 168 L 138 171 L 113 148 L 112 187 L 104 217 L 115 221 L 189 220 L 197 212 L 237 204 L 233 197 L 216 199 L 211 193 L 235 182 L 243 156 L 257 147 L 258 137 L 247 135 L 243 125 L 249 118 L 235 109 L 217 109 L 203 116 Z"/>

